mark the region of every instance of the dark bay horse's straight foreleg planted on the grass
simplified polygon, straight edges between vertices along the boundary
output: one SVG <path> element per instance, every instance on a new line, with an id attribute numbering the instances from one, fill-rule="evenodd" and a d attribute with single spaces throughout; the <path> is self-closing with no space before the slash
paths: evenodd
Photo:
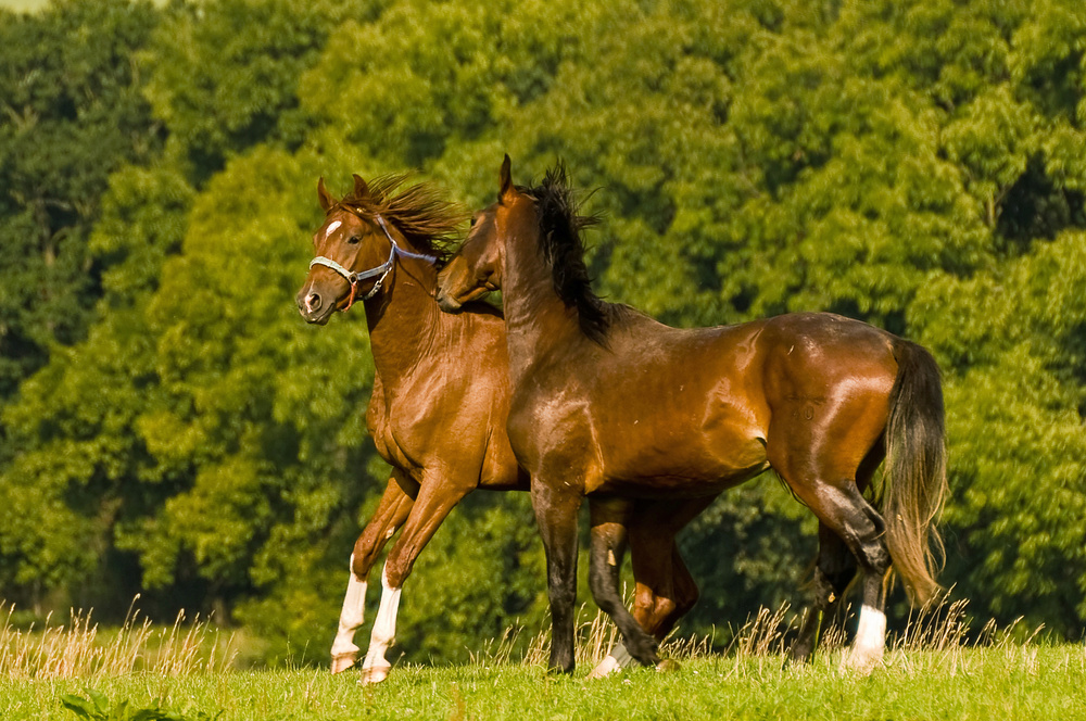
<path id="1" fill-rule="evenodd" d="M 550 671 L 572 673 L 573 606 L 577 602 L 577 511 L 581 496 L 532 478 L 532 508 L 546 553 L 551 600 Z"/>

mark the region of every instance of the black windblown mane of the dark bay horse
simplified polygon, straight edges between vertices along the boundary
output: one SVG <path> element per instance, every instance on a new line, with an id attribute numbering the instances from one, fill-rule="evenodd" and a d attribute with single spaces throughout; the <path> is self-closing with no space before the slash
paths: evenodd
<path id="1" fill-rule="evenodd" d="M 566 166 L 558 161 L 529 194 L 535 199 L 540 251 L 554 276 L 554 290 L 567 307 L 577 307 L 581 332 L 603 345 L 610 317 L 607 304 L 592 291 L 584 265 L 581 230 L 596 225 L 595 215 L 581 215 L 581 201 L 569 187 Z"/>

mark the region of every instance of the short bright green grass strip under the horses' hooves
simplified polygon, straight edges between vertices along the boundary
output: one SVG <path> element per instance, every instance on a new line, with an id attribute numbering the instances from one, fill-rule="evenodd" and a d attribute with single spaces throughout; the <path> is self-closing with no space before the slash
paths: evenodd
<path id="1" fill-rule="evenodd" d="M 349 672 L 134 673 L 79 680 L 0 680 L 0 718 L 73 719 L 63 694 L 93 687 L 113 704 L 161 706 L 184 718 L 274 719 L 857 719 L 1086 718 L 1086 649 L 1002 644 L 892 652 L 868 678 L 838 670 L 839 652 L 782 668 L 775 655 L 687 659 L 678 673 L 639 669 L 588 681 L 539 666 L 399 667 L 377 687 Z"/>

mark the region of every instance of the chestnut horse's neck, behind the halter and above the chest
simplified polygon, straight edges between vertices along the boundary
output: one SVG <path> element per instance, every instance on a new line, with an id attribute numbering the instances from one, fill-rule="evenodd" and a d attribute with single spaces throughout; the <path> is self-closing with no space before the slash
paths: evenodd
<path id="1" fill-rule="evenodd" d="M 374 366 L 392 389 L 432 345 L 440 314 L 433 300 L 438 271 L 426 261 L 397 257 L 386 283 L 366 301 L 366 322 Z"/>

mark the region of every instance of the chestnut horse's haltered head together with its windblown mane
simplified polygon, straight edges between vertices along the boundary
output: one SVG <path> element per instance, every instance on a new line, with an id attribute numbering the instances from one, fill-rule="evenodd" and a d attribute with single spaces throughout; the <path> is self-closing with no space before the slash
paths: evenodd
<path id="1" fill-rule="evenodd" d="M 393 194 L 404 179 L 386 176 L 367 185 L 355 175 L 354 190 L 339 201 L 325 188 L 324 178 L 317 182 L 325 222 L 313 236 L 315 257 L 295 299 L 307 322 L 324 325 L 333 312 L 376 296 L 397 257 L 444 265 L 459 210 L 425 184 Z"/>

